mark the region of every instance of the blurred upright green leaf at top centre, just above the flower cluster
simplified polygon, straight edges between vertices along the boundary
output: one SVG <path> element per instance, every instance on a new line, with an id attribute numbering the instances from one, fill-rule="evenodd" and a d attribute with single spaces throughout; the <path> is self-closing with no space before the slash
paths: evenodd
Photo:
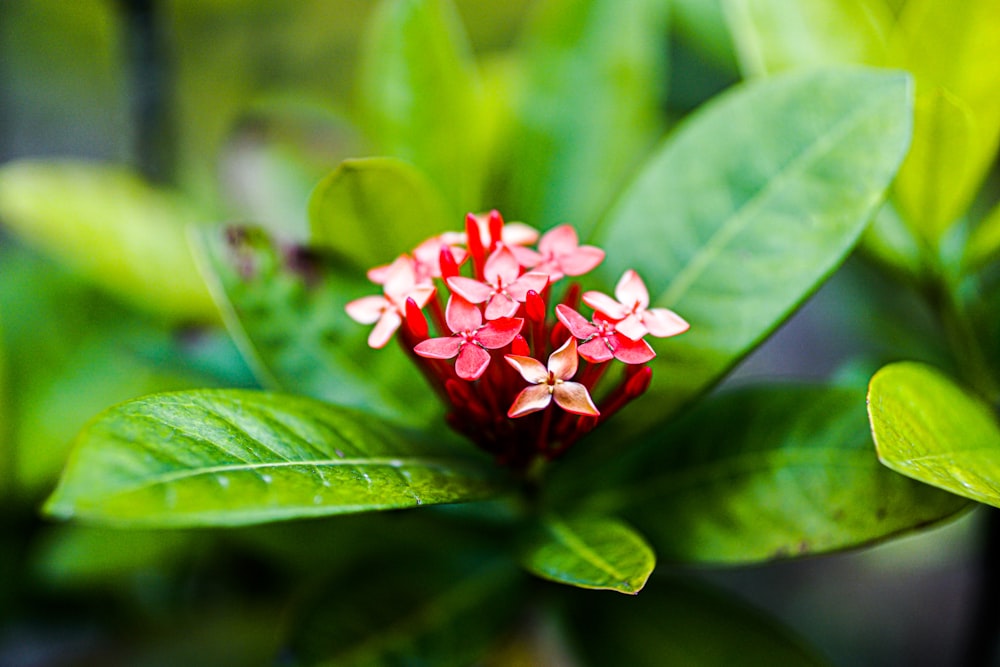
<path id="1" fill-rule="evenodd" d="M 511 207 L 586 237 L 662 130 L 668 3 L 549 0 L 522 49 Z"/>

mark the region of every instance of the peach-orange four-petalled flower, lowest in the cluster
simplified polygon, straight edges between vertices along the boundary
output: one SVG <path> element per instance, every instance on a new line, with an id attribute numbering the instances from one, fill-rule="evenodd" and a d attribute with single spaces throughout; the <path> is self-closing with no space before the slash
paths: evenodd
<path id="1" fill-rule="evenodd" d="M 590 392 L 579 382 L 569 382 L 576 375 L 576 339 L 570 338 L 549 355 L 548 368 L 531 357 L 508 354 L 504 357 L 531 386 L 521 390 L 507 411 L 508 417 L 521 417 L 544 410 L 555 399 L 567 412 L 596 417 L 600 414 Z"/>

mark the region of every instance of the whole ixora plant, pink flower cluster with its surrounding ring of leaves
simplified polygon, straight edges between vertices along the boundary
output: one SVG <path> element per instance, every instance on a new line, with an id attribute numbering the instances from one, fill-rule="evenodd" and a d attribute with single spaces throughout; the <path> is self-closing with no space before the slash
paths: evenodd
<path id="1" fill-rule="evenodd" d="M 894 71 L 740 87 L 582 244 L 496 213 L 448 232 L 427 179 L 383 158 L 319 184 L 309 244 L 197 229 L 271 390 L 109 408 L 45 511 L 180 528 L 410 508 L 329 522 L 333 581 L 295 616 L 293 662 L 502 664 L 505 638 L 555 630 L 582 664 L 821 664 L 724 596 L 650 575 L 857 547 L 967 506 L 879 464 L 854 390 L 706 397 L 851 250 L 911 115 Z"/>

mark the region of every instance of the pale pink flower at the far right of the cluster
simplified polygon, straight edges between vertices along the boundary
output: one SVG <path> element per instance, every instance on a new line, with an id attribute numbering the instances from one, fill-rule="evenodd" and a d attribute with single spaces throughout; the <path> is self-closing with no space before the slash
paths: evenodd
<path id="1" fill-rule="evenodd" d="M 676 336 L 691 326 L 666 308 L 647 308 L 649 292 L 639 274 L 629 269 L 615 286 L 615 301 L 601 292 L 584 292 L 583 302 L 615 320 L 615 330 L 637 341 L 647 333 L 657 338 Z"/>

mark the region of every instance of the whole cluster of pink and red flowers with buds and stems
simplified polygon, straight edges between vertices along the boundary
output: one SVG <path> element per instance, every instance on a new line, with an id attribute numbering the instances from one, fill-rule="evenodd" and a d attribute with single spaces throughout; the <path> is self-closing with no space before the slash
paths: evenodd
<path id="1" fill-rule="evenodd" d="M 646 390 L 647 362 L 656 356 L 646 336 L 688 328 L 676 313 L 649 307 L 635 271 L 625 272 L 614 297 L 560 285 L 603 260 L 604 251 L 580 245 L 569 225 L 539 238 L 496 211 L 469 214 L 464 233 L 435 236 L 370 270 L 382 294 L 350 302 L 347 313 L 375 325 L 373 348 L 398 331 L 448 403 L 451 426 L 523 469 L 565 452 Z M 594 311 L 589 319 L 581 300 Z M 612 360 L 622 366 L 609 374 Z"/>

